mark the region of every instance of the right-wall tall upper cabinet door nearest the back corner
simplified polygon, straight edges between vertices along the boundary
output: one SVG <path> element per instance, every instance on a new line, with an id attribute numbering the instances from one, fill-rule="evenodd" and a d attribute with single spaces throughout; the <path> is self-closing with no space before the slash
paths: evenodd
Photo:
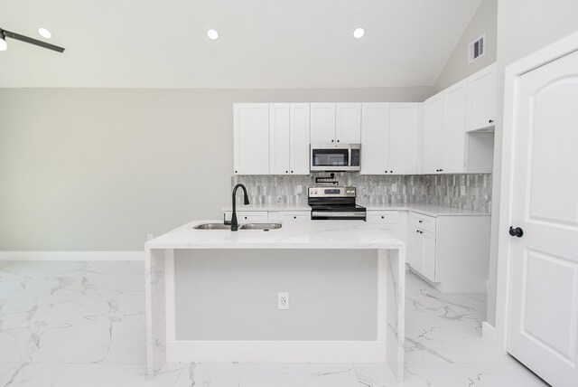
<path id="1" fill-rule="evenodd" d="M 422 132 L 422 172 L 435 174 L 443 165 L 443 95 L 437 94 L 424 102 Z"/>

